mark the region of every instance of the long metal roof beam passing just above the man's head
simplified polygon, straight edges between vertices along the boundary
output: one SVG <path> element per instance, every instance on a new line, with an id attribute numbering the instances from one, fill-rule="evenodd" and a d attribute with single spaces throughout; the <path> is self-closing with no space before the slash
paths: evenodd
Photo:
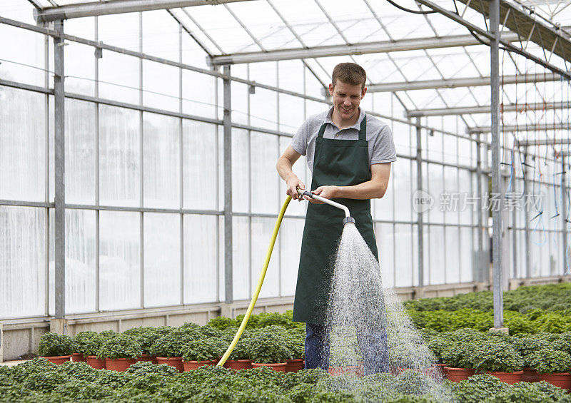
<path id="1" fill-rule="evenodd" d="M 502 34 L 505 41 L 517 40 L 511 32 Z M 262 61 L 294 60 L 298 58 L 317 58 L 329 56 L 348 56 L 366 53 L 386 53 L 398 51 L 416 51 L 421 49 L 453 48 L 457 46 L 481 45 L 472 35 L 443 36 L 441 38 L 401 39 L 400 41 L 366 42 L 363 44 L 345 44 L 315 46 L 311 48 L 281 49 L 266 52 L 233 53 L 207 57 L 211 66 L 224 64 L 257 63 Z"/>

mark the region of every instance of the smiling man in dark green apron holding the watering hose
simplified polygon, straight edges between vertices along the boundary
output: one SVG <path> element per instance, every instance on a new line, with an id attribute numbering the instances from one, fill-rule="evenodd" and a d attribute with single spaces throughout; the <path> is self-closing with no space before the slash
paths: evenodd
<path id="1" fill-rule="evenodd" d="M 297 189 L 305 189 L 305 184 L 293 173 L 292 165 L 305 155 L 313 173 L 310 190 L 323 198 L 335 198 L 349 208 L 360 234 L 378 259 L 370 199 L 382 198 L 385 194 L 390 163 L 396 160 L 396 153 L 390 128 L 377 118 L 365 115 L 359 107 L 367 92 L 365 80 L 365 70 L 358 64 L 335 66 L 329 84 L 333 107 L 310 116 L 303 123 L 278 159 L 276 168 L 285 180 L 288 195 L 298 199 Z M 343 231 L 344 215 L 338 208 L 307 196 L 303 198 L 310 204 L 303 230 L 293 320 L 306 323 L 305 367 L 328 370 L 325 318 L 333 275 L 332 259 Z M 386 371 L 386 364 L 378 362 L 374 351 L 384 350 L 386 354 L 385 333 L 370 331 L 365 335 L 363 330 L 358 330 L 358 339 L 365 373 Z"/>

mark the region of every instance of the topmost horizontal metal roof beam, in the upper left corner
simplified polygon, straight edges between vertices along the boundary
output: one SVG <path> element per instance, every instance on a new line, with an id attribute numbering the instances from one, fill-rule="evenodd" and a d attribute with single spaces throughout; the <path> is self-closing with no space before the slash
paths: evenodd
<path id="1" fill-rule="evenodd" d="M 134 13 L 161 9 L 181 9 L 183 7 L 206 6 L 234 3 L 250 0 L 109 0 L 105 2 L 69 4 L 59 7 L 34 9 L 34 19 L 37 23 L 51 22 L 64 19 L 104 16 L 108 14 Z"/>

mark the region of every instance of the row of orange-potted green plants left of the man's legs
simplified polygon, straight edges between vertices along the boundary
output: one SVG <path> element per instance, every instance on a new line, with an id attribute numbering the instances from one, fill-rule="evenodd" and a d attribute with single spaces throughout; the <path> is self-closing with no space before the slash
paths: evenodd
<path id="1" fill-rule="evenodd" d="M 80 332 L 75 337 L 48 332 L 39 355 L 61 364 L 86 361 L 97 369 L 123 371 L 137 361 L 165 363 L 180 372 L 213 365 L 221 358 L 236 327 L 219 330 L 187 323 L 181 327 L 137 327 L 123 333 Z M 303 369 L 304 333 L 298 327 L 272 325 L 246 330 L 225 366 L 233 369 L 269 366 L 278 371 Z"/>

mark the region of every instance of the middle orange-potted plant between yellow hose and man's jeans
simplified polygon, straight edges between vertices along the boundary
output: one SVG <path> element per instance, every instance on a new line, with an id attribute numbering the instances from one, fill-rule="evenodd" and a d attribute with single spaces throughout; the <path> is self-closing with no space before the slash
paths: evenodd
<path id="1" fill-rule="evenodd" d="M 251 342 L 250 359 L 252 367 L 271 367 L 285 372 L 286 359 L 291 359 L 291 352 L 283 335 L 276 332 L 259 332 Z"/>

